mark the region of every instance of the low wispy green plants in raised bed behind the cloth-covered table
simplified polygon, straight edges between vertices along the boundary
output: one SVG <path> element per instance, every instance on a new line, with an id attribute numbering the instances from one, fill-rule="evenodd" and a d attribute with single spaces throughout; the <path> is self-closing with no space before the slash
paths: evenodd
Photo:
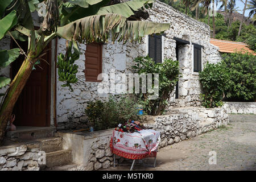
<path id="1" fill-rule="evenodd" d="M 125 123 L 128 119 L 138 119 L 138 107 L 134 98 L 110 97 L 108 102 L 88 102 L 85 114 L 96 130 L 105 130 Z"/>

